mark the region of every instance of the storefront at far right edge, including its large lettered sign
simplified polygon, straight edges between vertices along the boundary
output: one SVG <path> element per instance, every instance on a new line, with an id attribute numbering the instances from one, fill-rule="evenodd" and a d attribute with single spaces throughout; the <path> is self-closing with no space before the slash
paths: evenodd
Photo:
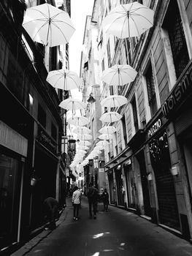
<path id="1" fill-rule="evenodd" d="M 179 161 L 175 165 L 182 178 L 180 222 L 183 236 L 192 237 L 192 61 L 162 106 L 164 117 L 172 121 Z M 182 193 L 181 193 L 182 192 Z"/>

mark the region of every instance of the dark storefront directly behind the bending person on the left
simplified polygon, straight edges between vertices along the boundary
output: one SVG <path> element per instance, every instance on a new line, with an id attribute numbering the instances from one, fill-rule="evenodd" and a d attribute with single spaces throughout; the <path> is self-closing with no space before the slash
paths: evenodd
<path id="1" fill-rule="evenodd" d="M 32 230 L 44 222 L 45 198 L 56 197 L 57 171 L 59 170 L 56 145 L 39 127 L 34 151 L 34 176 L 37 183 L 31 187 L 30 225 Z"/>

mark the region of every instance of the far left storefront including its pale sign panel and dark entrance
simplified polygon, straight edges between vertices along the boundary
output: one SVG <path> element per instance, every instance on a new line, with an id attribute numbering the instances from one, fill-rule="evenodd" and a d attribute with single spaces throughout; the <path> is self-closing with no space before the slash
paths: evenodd
<path id="1" fill-rule="evenodd" d="M 20 240 L 28 140 L 0 121 L 0 247 Z"/>

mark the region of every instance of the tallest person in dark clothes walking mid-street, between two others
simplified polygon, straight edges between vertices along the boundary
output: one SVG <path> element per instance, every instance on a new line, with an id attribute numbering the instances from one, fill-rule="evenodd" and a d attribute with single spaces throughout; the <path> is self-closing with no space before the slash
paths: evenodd
<path id="1" fill-rule="evenodd" d="M 89 217 L 90 219 L 96 219 L 96 211 L 97 211 L 97 200 L 98 200 L 98 191 L 93 184 L 89 184 L 88 187 L 88 206 L 89 206 Z M 93 208 L 93 215 L 92 215 Z"/>

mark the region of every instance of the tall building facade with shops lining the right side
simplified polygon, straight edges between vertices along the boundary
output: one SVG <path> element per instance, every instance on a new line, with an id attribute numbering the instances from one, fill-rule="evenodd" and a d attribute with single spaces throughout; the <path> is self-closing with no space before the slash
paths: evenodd
<path id="1" fill-rule="evenodd" d="M 111 124 L 117 132 L 104 151 L 110 203 L 191 239 L 192 2 L 139 1 L 154 10 L 154 24 L 130 42 L 102 27 L 112 8 L 129 2 L 96 0 L 92 15 L 101 99 L 110 94 L 128 99 L 115 109 L 123 118 Z M 136 69 L 134 82 L 121 88 L 104 84 L 102 72 L 115 64 Z"/>

